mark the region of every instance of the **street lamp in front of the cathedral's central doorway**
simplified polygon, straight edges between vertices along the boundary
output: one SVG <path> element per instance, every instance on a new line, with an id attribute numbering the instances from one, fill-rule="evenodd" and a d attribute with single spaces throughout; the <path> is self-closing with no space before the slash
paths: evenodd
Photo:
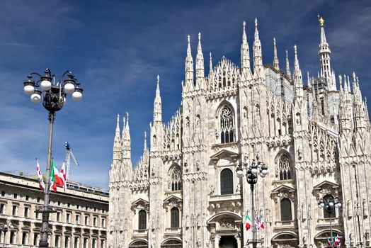
<path id="1" fill-rule="evenodd" d="M 237 165 L 236 173 L 240 178 L 244 176 L 244 168 L 246 168 L 246 180 L 250 184 L 251 188 L 251 217 L 252 217 L 252 232 L 253 238 L 249 240 L 250 244 L 253 244 L 253 248 L 256 248 L 256 244 L 260 241 L 256 238 L 256 225 L 255 225 L 255 205 L 253 201 L 253 190 L 255 184 L 258 181 L 258 175 L 264 178 L 268 174 L 268 167 L 263 162 L 256 163 L 255 160 L 251 164 L 241 163 Z"/>

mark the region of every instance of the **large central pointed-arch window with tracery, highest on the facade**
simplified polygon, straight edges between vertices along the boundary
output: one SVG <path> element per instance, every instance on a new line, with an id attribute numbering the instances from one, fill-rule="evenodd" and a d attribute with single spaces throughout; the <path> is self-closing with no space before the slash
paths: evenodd
<path id="1" fill-rule="evenodd" d="M 234 113 L 225 106 L 220 114 L 220 137 L 222 143 L 234 142 Z"/>

